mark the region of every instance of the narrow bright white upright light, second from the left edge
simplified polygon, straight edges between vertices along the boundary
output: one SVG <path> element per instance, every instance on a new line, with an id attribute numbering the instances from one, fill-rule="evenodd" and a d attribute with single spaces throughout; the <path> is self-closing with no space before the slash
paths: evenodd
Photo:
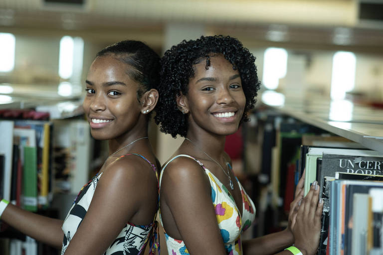
<path id="1" fill-rule="evenodd" d="M 60 40 L 60 55 L 58 74 L 62 79 L 69 79 L 73 73 L 74 42 L 70 36 L 63 36 Z"/>

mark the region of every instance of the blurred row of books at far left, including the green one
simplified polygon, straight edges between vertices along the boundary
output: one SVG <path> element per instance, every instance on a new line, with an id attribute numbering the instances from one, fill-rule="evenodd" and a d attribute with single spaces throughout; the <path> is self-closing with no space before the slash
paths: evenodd
<path id="1" fill-rule="evenodd" d="M 52 123 L 0 120 L 0 197 L 31 212 L 47 208 Z"/>

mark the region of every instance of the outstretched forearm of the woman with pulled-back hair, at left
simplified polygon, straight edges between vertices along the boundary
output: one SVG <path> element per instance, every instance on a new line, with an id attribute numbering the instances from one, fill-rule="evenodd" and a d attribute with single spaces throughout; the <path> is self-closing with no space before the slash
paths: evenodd
<path id="1" fill-rule="evenodd" d="M 1 220 L 11 227 L 47 245 L 60 248 L 63 233 L 62 221 L 34 214 L 8 204 Z"/>

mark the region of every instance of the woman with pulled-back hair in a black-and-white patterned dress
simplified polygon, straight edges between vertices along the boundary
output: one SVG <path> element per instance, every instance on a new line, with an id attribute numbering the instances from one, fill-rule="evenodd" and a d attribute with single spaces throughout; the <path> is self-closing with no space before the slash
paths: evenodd
<path id="1" fill-rule="evenodd" d="M 108 140 L 109 156 L 64 221 L 10 204 L 1 220 L 61 248 L 61 255 L 142 254 L 153 241 L 158 209 L 160 165 L 148 123 L 158 100 L 159 69 L 158 54 L 140 41 L 101 50 L 88 71 L 83 108 L 92 136 Z"/>

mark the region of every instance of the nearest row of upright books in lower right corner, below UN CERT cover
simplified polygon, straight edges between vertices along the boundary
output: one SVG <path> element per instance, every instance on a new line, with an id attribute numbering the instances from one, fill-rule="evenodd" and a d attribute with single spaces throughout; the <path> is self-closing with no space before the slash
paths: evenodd
<path id="1" fill-rule="evenodd" d="M 372 190 L 376 190 L 375 194 Z M 330 255 L 371 254 L 374 249 L 383 249 L 382 192 L 382 181 L 334 180 L 331 183 L 327 247 Z M 377 215 L 375 219 L 373 211 Z"/>

